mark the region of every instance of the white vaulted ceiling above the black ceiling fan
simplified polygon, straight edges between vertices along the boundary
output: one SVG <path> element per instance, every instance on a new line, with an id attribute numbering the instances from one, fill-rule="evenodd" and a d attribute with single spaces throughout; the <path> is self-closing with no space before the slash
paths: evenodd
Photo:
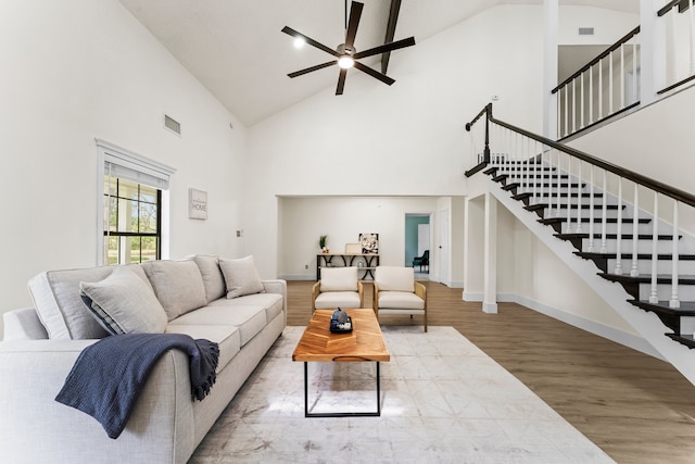
<path id="1" fill-rule="evenodd" d="M 330 48 L 344 41 L 344 0 L 119 0 L 244 125 L 262 121 L 318 91 L 334 89 L 338 68 L 328 67 L 296 78 L 288 73 L 331 59 L 313 47 L 296 50 L 280 29 L 290 26 Z M 363 0 L 355 47 L 383 43 L 391 0 Z M 542 0 L 402 0 L 395 40 L 415 36 L 422 41 L 482 10 L 498 4 L 542 4 Z M 637 12 L 639 0 L 574 0 Z M 349 5 L 350 8 L 350 5 Z M 417 47 L 417 45 L 416 45 Z M 399 60 L 397 50 L 391 63 Z M 379 58 L 365 64 L 379 70 Z M 350 70 L 345 95 L 351 88 Z M 397 75 L 388 73 L 396 79 Z M 359 85 L 383 86 L 377 79 Z"/>

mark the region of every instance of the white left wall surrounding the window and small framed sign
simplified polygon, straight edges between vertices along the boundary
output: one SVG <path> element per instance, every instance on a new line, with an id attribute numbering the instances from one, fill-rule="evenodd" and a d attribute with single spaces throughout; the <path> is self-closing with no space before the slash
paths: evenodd
<path id="1" fill-rule="evenodd" d="M 172 258 L 241 253 L 245 129 L 121 3 L 3 0 L 0 61 L 0 312 L 29 306 L 41 271 L 97 264 L 94 138 L 177 170 Z M 207 221 L 188 220 L 190 187 L 207 191 Z"/>

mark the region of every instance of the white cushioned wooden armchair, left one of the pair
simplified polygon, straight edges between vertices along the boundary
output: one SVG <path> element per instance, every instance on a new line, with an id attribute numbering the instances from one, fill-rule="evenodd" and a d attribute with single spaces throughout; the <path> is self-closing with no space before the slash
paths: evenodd
<path id="1" fill-rule="evenodd" d="M 312 287 L 312 310 L 364 308 L 363 285 L 357 267 L 324 267 L 321 279 Z"/>

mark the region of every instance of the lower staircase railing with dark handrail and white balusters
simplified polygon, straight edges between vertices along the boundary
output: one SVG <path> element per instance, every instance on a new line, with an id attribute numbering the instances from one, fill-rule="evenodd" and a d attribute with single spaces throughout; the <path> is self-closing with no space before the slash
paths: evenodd
<path id="1" fill-rule="evenodd" d="M 477 124 L 484 117 L 484 125 Z M 476 129 L 476 130 L 473 130 Z M 608 193 L 615 198 L 616 204 L 627 204 L 632 211 L 632 220 L 623 221 L 622 209 L 617 209 L 616 228 L 616 265 L 611 274 L 630 274 L 637 277 L 649 275 L 649 303 L 659 304 L 657 280 L 661 275 L 671 277 L 671 294 L 661 296 L 661 305 L 680 308 L 679 297 L 679 214 L 685 212 L 688 217 L 695 214 L 695 196 L 677 189 L 650 177 L 599 160 L 591 154 L 556 142 L 529 130 L 496 120 L 492 115 L 492 103 L 466 124 L 466 130 L 472 131 L 471 143 L 478 159 L 472 163 L 476 167 L 466 173 L 475 174 L 492 164 L 503 166 L 511 176 L 509 183 L 518 183 L 518 193 L 531 192 L 531 203 L 547 203 L 545 217 L 564 217 L 565 233 L 587 233 L 589 252 L 606 253 Z M 480 137 L 482 133 L 482 137 Z M 536 181 L 536 167 L 554 168 L 546 174 L 545 181 Z M 577 195 L 574 198 L 561 187 L 561 175 L 566 174 L 568 183 L 586 183 L 587 196 Z M 603 192 L 598 200 L 595 193 Z M 630 204 L 630 199 L 632 203 Z M 577 205 L 573 208 L 572 205 Z M 685 211 L 687 210 L 687 211 Z M 639 248 L 639 239 L 644 242 L 644 234 L 640 230 L 640 216 L 649 214 L 654 218 L 650 231 L 650 269 L 640 269 L 639 260 L 644 260 L 645 251 Z M 664 237 L 672 233 L 668 247 L 671 255 L 665 255 Z M 631 242 L 630 259 L 624 260 L 623 242 Z M 659 266 L 659 260 L 670 260 L 670 269 Z M 629 261 L 626 263 L 624 261 Z"/>

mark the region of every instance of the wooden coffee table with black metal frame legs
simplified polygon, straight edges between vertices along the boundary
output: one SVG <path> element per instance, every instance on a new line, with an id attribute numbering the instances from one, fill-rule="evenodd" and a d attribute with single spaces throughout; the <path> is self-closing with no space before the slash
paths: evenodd
<path id="1" fill-rule="evenodd" d="M 380 416 L 381 386 L 379 363 L 391 356 L 379 327 L 374 310 L 345 310 L 352 318 L 353 330 L 346 334 L 331 334 L 330 317 L 333 310 L 316 310 L 300 339 L 292 361 L 304 362 L 304 417 Z M 377 411 L 309 413 L 308 374 L 309 362 L 375 362 L 377 364 Z"/>

